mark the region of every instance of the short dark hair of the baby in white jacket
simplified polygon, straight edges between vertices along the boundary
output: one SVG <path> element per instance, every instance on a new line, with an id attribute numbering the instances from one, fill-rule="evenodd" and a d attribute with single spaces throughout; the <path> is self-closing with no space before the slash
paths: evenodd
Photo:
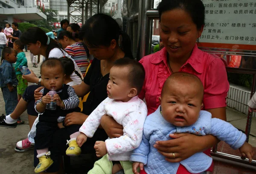
<path id="1" fill-rule="evenodd" d="M 128 81 L 131 84 L 131 87 L 134 87 L 138 90 L 137 94 L 140 94 L 145 80 L 144 67 L 137 60 L 130 59 L 128 57 L 116 60 L 113 67 L 114 66 L 120 68 L 127 67 L 129 69 Z"/>

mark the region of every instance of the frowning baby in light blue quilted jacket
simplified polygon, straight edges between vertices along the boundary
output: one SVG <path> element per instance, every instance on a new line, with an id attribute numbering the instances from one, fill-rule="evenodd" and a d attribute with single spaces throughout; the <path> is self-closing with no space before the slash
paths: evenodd
<path id="1" fill-rule="evenodd" d="M 251 162 L 254 152 L 252 146 L 245 142 L 246 135 L 230 123 L 201 111 L 203 95 L 204 86 L 195 75 L 177 72 L 167 78 L 160 97 L 161 106 L 146 118 L 143 140 L 131 154 L 134 174 L 139 174 L 138 167 L 140 174 L 198 174 L 206 171 L 212 164 L 212 158 L 203 152 L 180 163 L 170 163 L 154 148 L 156 141 L 170 140 L 169 134 L 182 132 L 212 134 L 232 148 L 239 148 L 242 156 L 247 156 Z M 175 153 L 172 155 L 175 158 Z"/>

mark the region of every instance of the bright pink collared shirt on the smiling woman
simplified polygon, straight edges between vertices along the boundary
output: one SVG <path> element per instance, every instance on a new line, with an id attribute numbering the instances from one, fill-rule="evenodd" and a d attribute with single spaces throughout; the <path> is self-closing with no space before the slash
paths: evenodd
<path id="1" fill-rule="evenodd" d="M 143 57 L 140 63 L 145 68 L 145 82 L 139 95 L 145 97 L 148 115 L 157 110 L 163 84 L 172 73 L 167 64 L 167 51 L 163 48 L 154 54 Z M 204 109 L 227 106 L 226 97 L 229 90 L 227 72 L 220 58 L 201 51 L 197 45 L 186 63 L 180 67 L 180 72 L 194 74 L 204 85 Z"/>

